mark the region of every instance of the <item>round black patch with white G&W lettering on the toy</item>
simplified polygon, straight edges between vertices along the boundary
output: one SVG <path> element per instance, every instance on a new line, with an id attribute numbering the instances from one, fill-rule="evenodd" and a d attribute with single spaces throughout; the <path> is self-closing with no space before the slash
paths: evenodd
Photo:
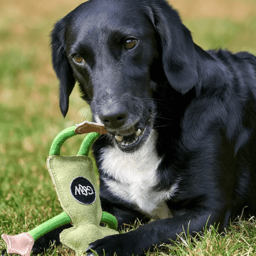
<path id="1" fill-rule="evenodd" d="M 76 177 L 70 184 L 71 195 L 81 204 L 93 204 L 96 200 L 96 191 L 93 184 L 84 177 Z"/>

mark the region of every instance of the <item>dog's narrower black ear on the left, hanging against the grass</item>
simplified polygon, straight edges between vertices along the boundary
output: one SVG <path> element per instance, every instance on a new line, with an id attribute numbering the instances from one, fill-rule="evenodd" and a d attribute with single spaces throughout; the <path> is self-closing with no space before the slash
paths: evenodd
<path id="1" fill-rule="evenodd" d="M 60 81 L 59 98 L 61 113 L 65 117 L 68 112 L 69 95 L 75 86 L 75 78 L 67 58 L 65 32 L 67 29 L 67 16 L 59 20 L 50 34 L 53 69 Z"/>

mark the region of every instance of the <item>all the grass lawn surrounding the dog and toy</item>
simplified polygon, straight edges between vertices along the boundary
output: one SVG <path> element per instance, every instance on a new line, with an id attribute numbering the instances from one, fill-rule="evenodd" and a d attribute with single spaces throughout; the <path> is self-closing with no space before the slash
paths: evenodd
<path id="1" fill-rule="evenodd" d="M 53 23 L 83 0 L 1 0 L 0 3 L 0 233 L 18 234 L 62 210 L 47 167 L 50 145 L 64 128 L 90 120 L 77 89 L 67 117 L 59 110 L 51 67 Z M 256 54 L 255 0 L 174 0 L 196 44 Z M 83 136 L 69 139 L 64 155 L 75 155 Z M 95 173 L 97 169 L 95 167 Z M 131 227 L 134 228 L 134 227 Z M 232 223 L 226 236 L 212 227 L 193 240 L 181 237 L 153 255 L 256 255 L 256 220 Z M 0 240 L 0 251 L 5 248 Z M 69 255 L 63 246 L 46 255 Z"/>

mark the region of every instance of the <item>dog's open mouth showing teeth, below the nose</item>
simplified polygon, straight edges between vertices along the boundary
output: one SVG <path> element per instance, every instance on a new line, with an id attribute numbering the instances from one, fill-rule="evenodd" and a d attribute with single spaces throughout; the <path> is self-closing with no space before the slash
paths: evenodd
<path id="1" fill-rule="evenodd" d="M 131 126 L 128 129 L 120 130 L 113 135 L 114 141 L 122 151 L 134 151 L 147 140 L 149 127 Z"/>

